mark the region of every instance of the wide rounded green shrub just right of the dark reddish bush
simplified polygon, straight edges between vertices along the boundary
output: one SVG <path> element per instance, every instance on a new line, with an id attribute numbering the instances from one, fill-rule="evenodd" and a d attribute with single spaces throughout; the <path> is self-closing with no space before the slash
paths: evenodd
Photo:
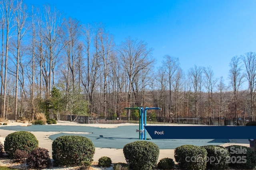
<path id="1" fill-rule="evenodd" d="M 82 136 L 61 136 L 52 142 L 52 158 L 57 166 L 77 166 L 84 161 L 92 162 L 94 152 L 92 141 Z"/>

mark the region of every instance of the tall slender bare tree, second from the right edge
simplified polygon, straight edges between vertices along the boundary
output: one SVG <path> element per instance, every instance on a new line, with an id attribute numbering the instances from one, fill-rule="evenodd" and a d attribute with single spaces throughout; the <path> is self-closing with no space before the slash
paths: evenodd
<path id="1" fill-rule="evenodd" d="M 244 75 L 242 74 L 242 66 L 241 66 L 241 60 L 238 56 L 235 56 L 231 59 L 230 62 L 230 70 L 229 70 L 229 79 L 230 79 L 230 85 L 233 90 L 234 95 L 234 116 L 238 117 L 238 92 L 239 88 L 241 87 L 243 83 Z M 236 123 L 236 122 L 235 122 Z"/>

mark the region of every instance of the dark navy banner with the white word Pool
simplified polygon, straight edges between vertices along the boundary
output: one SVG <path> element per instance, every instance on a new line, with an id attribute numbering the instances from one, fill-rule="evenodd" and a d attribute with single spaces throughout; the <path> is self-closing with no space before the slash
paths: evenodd
<path id="1" fill-rule="evenodd" d="M 145 126 L 152 139 L 256 139 L 256 126 Z"/>

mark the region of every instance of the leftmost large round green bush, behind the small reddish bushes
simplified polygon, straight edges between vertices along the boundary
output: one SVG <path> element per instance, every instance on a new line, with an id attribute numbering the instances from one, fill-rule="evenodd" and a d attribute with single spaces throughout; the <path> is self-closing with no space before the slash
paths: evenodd
<path id="1" fill-rule="evenodd" d="M 10 158 L 13 158 L 17 149 L 30 152 L 38 147 L 38 140 L 35 135 L 26 131 L 17 131 L 6 136 L 4 150 Z"/>

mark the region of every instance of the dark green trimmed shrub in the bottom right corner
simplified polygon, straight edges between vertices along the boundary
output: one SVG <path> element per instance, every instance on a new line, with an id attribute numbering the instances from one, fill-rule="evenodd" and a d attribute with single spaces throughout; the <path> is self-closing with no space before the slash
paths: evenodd
<path id="1" fill-rule="evenodd" d="M 256 166 L 256 153 L 249 147 L 232 145 L 226 147 L 230 153 L 228 166 L 236 169 L 254 169 Z"/>

